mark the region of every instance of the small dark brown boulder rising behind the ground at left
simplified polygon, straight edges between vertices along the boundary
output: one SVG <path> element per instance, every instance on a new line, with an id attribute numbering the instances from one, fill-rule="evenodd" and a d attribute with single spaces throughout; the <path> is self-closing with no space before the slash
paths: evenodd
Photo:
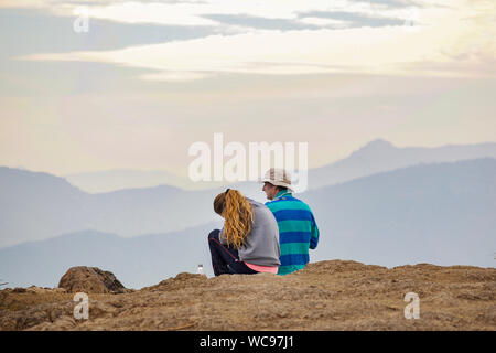
<path id="1" fill-rule="evenodd" d="M 112 272 L 104 271 L 98 267 L 71 267 L 62 276 L 60 288 L 68 292 L 86 293 L 123 293 L 127 292 L 125 286 L 114 276 Z"/>

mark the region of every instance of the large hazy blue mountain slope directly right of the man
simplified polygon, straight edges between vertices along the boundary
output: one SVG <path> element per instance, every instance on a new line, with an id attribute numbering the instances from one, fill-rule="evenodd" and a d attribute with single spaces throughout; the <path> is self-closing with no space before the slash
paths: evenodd
<path id="1" fill-rule="evenodd" d="M 316 259 L 495 265 L 496 159 L 409 167 L 309 191 Z"/>

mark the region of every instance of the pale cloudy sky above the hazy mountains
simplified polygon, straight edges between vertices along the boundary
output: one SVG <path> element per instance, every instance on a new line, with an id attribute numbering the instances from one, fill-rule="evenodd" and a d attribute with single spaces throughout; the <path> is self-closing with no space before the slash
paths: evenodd
<path id="1" fill-rule="evenodd" d="M 0 165 L 185 175 L 188 147 L 496 141 L 494 0 L 0 1 Z M 87 30 L 87 31 L 86 31 Z"/>

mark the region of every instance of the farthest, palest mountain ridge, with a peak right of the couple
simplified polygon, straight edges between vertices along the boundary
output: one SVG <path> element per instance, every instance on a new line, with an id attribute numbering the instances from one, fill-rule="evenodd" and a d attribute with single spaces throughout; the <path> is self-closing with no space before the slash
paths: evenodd
<path id="1" fill-rule="evenodd" d="M 376 139 L 348 157 L 309 172 L 309 188 L 316 189 L 337 182 L 419 163 L 454 162 L 457 160 L 496 158 L 496 143 L 452 145 L 436 148 L 406 147 Z M 166 171 L 108 170 L 63 175 L 69 183 L 89 193 L 110 192 L 131 188 L 172 185 L 184 190 L 207 190 L 225 186 L 223 182 L 192 182 Z M 251 186 L 236 183 L 248 190 Z M 251 188 L 251 189 L 250 189 Z"/>

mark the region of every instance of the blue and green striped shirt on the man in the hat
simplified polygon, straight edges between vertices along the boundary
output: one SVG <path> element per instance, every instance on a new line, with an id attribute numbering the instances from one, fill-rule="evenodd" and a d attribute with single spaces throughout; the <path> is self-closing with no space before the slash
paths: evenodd
<path id="1" fill-rule="evenodd" d="M 281 266 L 278 275 L 288 275 L 305 267 L 310 260 L 309 248 L 319 244 L 319 227 L 309 205 L 280 191 L 273 201 L 266 203 L 279 226 Z"/>

